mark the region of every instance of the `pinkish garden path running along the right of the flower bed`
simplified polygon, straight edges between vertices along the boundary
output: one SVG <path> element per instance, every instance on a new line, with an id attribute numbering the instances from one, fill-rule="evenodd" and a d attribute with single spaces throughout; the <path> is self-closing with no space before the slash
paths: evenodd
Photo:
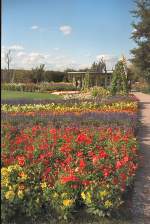
<path id="1" fill-rule="evenodd" d="M 138 138 L 142 157 L 133 192 L 133 215 L 134 223 L 150 224 L 150 95 L 139 92 L 134 95 L 140 100 Z"/>

